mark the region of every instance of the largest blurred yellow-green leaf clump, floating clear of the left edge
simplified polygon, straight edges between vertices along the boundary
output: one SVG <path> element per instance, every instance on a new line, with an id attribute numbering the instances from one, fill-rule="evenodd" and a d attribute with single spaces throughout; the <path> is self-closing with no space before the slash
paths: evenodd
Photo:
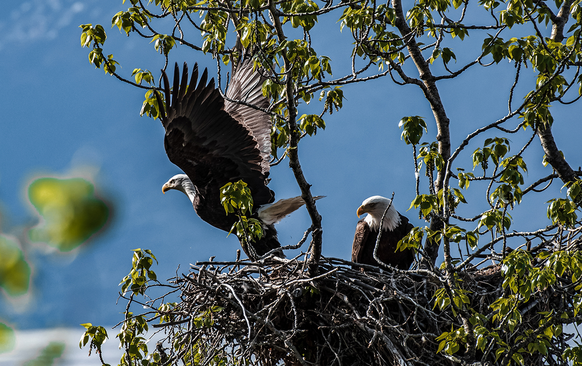
<path id="1" fill-rule="evenodd" d="M 29 231 L 30 240 L 70 251 L 101 229 L 109 216 L 94 186 L 81 178 L 40 178 L 29 186 L 29 200 L 44 218 Z"/>

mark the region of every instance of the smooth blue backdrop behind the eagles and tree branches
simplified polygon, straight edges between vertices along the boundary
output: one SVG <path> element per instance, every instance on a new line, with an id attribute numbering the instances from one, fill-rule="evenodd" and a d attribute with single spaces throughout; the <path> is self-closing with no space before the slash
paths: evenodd
<path id="1" fill-rule="evenodd" d="M 109 29 L 111 17 L 127 5 L 109 0 L 9 0 L 3 5 L 0 229 L 22 237 L 24 228 L 36 222 L 33 208 L 27 203 L 26 187 L 38 176 L 91 177 L 98 193 L 112 202 L 113 215 L 104 233 L 74 253 L 54 253 L 22 240 L 33 268 L 30 292 L 19 299 L 0 298 L 0 319 L 17 329 L 85 322 L 115 324 L 125 308 L 115 304 L 117 284 L 129 272 L 134 248 L 149 248 L 157 255 L 160 265 L 154 269 L 161 279 L 175 275 L 178 265 L 186 272 L 190 263 L 212 255 L 217 260 L 235 258 L 240 247 L 236 237 L 227 238 L 225 232 L 201 221 L 182 193 L 162 195 L 162 184 L 180 170 L 166 157 L 160 123 L 139 116 L 143 91 L 95 70 L 88 62 L 87 48 L 80 47 L 77 26 L 103 24 L 108 32 L 105 53 L 115 55 L 122 66 L 120 73 L 130 77 L 132 70 L 140 67 L 159 75 L 164 59 L 155 53 L 152 44 Z M 319 26 L 325 31 L 312 37 L 314 48 L 332 58 L 334 75 L 340 76 L 350 69 L 351 41 L 349 33 L 339 33 L 335 22 L 335 17 L 320 19 Z M 475 32 L 474 40 L 467 42 L 467 54 L 462 53 L 459 41 L 448 45 L 457 52 L 457 66 L 478 56 L 481 40 L 481 34 Z M 171 65 L 197 61 L 215 73 L 210 57 L 184 47 L 172 51 L 170 61 Z M 411 67 L 407 70 L 417 74 Z M 513 83 L 513 72 L 513 65 L 502 64 L 470 70 L 459 80 L 439 84 L 455 125 L 453 146 L 478 126 L 505 115 L 506 91 Z M 524 73 L 531 76 L 531 69 Z M 424 141 L 434 140 L 435 126 L 430 107 L 417 87 L 395 86 L 386 78 L 346 86 L 344 93 L 345 107 L 327 116 L 327 129 L 301 141 L 300 159 L 313 185 L 312 192 L 327 196 L 317 202 L 323 216 L 323 254 L 349 259 L 356 209 L 367 197 L 389 197 L 395 191 L 396 208 L 414 225 L 425 225 L 418 220 L 417 212 L 405 212 L 414 198 L 414 169 L 411 148 L 400 141 L 398 122 L 403 116 L 423 116 L 430 136 Z M 580 123 L 576 123 L 579 110 L 573 113 L 576 108 L 561 108 L 554 115 L 558 122 L 556 140 L 566 158 L 576 165 L 574 168 L 579 165 L 576 136 L 581 132 Z M 299 106 L 299 114 L 308 111 L 318 113 L 321 105 Z M 478 138 L 467 152 L 482 144 L 484 138 Z M 516 151 L 524 138 L 511 137 Z M 539 140 L 533 144 L 526 153 L 528 182 L 551 173 L 551 169 L 541 166 Z M 469 153 L 458 163 L 470 170 Z M 276 198 L 300 194 L 286 162 L 272 168 L 271 177 L 269 186 Z M 426 182 L 422 188 L 426 191 Z M 558 188 L 512 212 L 521 225 L 519 229 L 549 222 L 544 202 L 558 196 Z M 482 197 L 467 198 L 472 206 L 466 212 L 484 207 Z M 278 225 L 279 239 L 283 244 L 294 244 L 309 226 L 307 212 L 301 209 Z"/>

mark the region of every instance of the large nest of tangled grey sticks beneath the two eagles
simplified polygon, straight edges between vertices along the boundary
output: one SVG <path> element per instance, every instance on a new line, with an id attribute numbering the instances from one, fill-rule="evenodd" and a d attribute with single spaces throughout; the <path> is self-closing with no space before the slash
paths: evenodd
<path id="1" fill-rule="evenodd" d="M 310 278 L 306 262 L 271 258 L 261 262 L 199 262 L 176 276 L 180 302 L 160 311 L 165 339 L 162 363 L 271 365 L 452 365 L 495 364 L 495 350 L 477 350 L 475 363 L 437 353 L 443 332 L 462 326 L 450 306 L 434 306 L 443 280 L 428 271 L 382 271 L 338 258 L 322 258 Z M 362 270 L 363 269 L 363 270 Z M 471 307 L 489 314 L 501 297 L 499 265 L 462 272 Z M 563 296 L 544 290 L 521 310 L 520 328 L 535 329 L 540 311 L 563 308 Z M 562 341 L 567 335 L 562 335 Z M 492 343 L 492 342 L 491 342 Z M 550 353 L 560 363 L 559 344 Z M 527 356 L 527 355 L 526 355 Z M 538 356 L 540 356 L 538 354 Z M 527 356 L 528 357 L 528 356 Z M 540 359 L 527 359 L 537 364 Z M 501 359 L 499 360 L 501 361 Z M 168 362 L 168 364 L 173 364 Z M 244 363 L 243 363 L 244 364 Z"/>

